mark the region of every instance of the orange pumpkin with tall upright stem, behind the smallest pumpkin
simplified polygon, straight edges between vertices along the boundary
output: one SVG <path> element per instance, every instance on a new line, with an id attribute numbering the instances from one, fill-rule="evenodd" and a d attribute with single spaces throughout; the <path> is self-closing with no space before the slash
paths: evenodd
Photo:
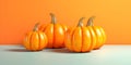
<path id="1" fill-rule="evenodd" d="M 51 23 L 40 26 L 39 30 L 44 31 L 47 35 L 47 48 L 63 48 L 64 34 L 68 27 L 66 25 L 58 24 L 55 14 L 50 13 L 50 16 Z"/>

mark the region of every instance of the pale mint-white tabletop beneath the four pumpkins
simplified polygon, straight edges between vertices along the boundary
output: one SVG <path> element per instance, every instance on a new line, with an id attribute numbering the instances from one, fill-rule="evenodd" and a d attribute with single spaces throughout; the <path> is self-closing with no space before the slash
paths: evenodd
<path id="1" fill-rule="evenodd" d="M 131 46 L 104 46 L 88 53 L 67 49 L 28 52 L 22 46 L 0 46 L 0 65 L 131 65 Z"/>

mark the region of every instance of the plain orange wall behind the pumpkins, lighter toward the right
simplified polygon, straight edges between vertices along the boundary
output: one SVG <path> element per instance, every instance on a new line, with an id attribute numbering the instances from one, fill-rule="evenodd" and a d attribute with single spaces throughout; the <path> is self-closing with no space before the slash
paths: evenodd
<path id="1" fill-rule="evenodd" d="M 107 42 L 131 43 L 131 0 L 0 0 L 0 43 L 22 43 L 24 35 L 37 22 L 50 23 L 49 13 L 60 24 L 76 26 L 80 17 L 95 15 L 103 26 Z"/>

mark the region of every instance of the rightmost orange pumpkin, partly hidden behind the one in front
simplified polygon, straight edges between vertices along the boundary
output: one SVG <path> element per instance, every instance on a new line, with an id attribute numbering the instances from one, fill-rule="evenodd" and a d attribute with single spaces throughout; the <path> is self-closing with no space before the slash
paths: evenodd
<path id="1" fill-rule="evenodd" d="M 106 34 L 103 27 L 100 26 L 94 26 L 93 24 L 93 20 L 95 16 L 90 17 L 90 20 L 87 21 L 86 27 L 90 28 L 90 30 L 92 30 L 92 35 L 94 35 L 93 40 L 95 43 L 95 47 L 93 49 L 97 50 L 100 47 L 103 47 L 103 44 L 106 41 Z"/>

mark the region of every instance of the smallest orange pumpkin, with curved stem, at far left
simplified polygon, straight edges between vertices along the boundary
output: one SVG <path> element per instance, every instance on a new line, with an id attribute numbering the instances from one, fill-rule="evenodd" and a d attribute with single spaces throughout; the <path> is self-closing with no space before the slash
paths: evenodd
<path id="1" fill-rule="evenodd" d="M 38 25 L 39 23 L 37 23 L 34 26 L 34 29 L 29 32 L 26 34 L 25 38 L 24 38 L 24 47 L 26 48 L 26 50 L 29 51 L 40 51 L 44 48 L 46 48 L 47 46 L 47 37 L 43 31 L 38 30 Z"/>

